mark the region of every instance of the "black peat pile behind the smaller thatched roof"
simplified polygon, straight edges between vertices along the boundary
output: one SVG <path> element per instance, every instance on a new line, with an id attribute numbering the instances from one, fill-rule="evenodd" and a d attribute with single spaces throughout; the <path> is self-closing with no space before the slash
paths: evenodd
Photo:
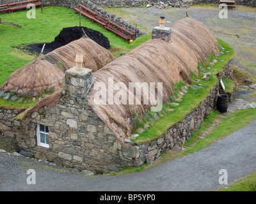
<path id="1" fill-rule="evenodd" d="M 45 43 L 44 54 L 47 54 L 48 52 L 51 52 L 52 50 L 55 50 L 56 48 L 59 48 L 63 45 L 67 45 L 71 41 L 78 40 L 79 38 L 84 36 L 82 28 L 84 29 L 84 32 L 86 33 L 88 38 L 91 38 L 93 41 L 95 41 L 100 46 L 102 46 L 106 49 L 110 48 L 108 38 L 106 38 L 99 31 L 94 31 L 87 27 L 75 26 L 75 27 L 63 28 L 63 30 L 60 32 L 60 34 L 58 34 L 58 36 L 56 36 L 54 41 L 52 41 L 51 43 Z M 25 47 L 25 49 L 33 54 L 35 54 L 35 53 L 39 54 L 41 52 L 43 46 L 44 46 L 44 43 L 36 43 L 36 44 L 27 45 Z M 21 47 L 19 47 L 19 48 L 21 48 Z"/>

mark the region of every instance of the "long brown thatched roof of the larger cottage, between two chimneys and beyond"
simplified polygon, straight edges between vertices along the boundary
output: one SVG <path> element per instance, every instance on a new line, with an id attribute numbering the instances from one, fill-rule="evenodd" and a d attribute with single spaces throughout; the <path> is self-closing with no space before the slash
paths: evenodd
<path id="1" fill-rule="evenodd" d="M 193 18 L 183 18 L 172 24 L 172 43 L 163 40 L 149 40 L 140 47 L 135 48 L 129 54 L 116 59 L 96 73 L 95 84 L 97 82 L 105 84 L 106 98 L 112 97 L 108 94 L 113 90 L 113 84 L 122 82 L 129 87 L 129 82 L 162 82 L 163 101 L 168 101 L 172 95 L 172 85 L 175 82 L 184 80 L 191 82 L 189 75 L 191 71 L 198 73 L 198 61 L 203 62 L 205 57 L 211 52 L 217 54 L 218 43 L 213 34 L 202 23 Z M 113 84 L 109 84 L 109 78 L 113 78 Z M 105 89 L 104 87 L 101 87 Z M 157 94 L 157 85 L 154 92 Z M 124 105 L 99 105 L 95 101 L 95 96 L 99 96 L 99 90 L 93 90 L 88 94 L 88 104 L 93 111 L 109 126 L 120 142 L 129 138 L 134 126 L 134 114 L 138 113 L 140 119 L 145 115 L 145 109 L 152 104 L 143 105 L 143 96 L 148 92 L 141 91 L 141 105 L 131 105 L 128 98 L 136 98 L 136 92 L 125 89 L 116 89 L 113 96 L 122 95 L 127 97 Z M 125 97 L 124 97 L 125 98 Z M 119 98 L 120 99 L 120 98 Z M 129 105 L 130 104 L 130 105 Z M 134 103 L 135 104 L 135 103 Z"/>

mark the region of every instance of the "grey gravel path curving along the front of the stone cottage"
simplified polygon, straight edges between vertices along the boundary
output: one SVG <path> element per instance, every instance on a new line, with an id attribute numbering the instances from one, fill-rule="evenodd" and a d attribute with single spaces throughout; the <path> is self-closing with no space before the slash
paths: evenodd
<path id="1" fill-rule="evenodd" d="M 255 126 L 256 120 L 200 152 L 115 177 L 86 177 L 44 161 L 0 153 L 0 191 L 211 191 L 220 187 L 221 169 L 227 170 L 229 183 L 255 171 Z M 26 182 L 29 169 L 36 171 L 35 185 Z"/>

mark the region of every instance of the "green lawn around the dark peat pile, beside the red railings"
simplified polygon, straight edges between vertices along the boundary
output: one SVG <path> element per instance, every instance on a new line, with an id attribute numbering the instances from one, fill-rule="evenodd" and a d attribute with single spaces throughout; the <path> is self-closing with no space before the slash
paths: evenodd
<path id="1" fill-rule="evenodd" d="M 13 22 L 22 27 L 0 24 L 0 86 L 14 71 L 22 68 L 36 55 L 31 55 L 26 51 L 18 50 L 19 45 L 28 45 L 32 43 L 49 43 L 60 33 L 63 27 L 79 26 L 79 14 L 74 10 L 59 6 L 36 8 L 36 18 L 27 18 L 26 10 L 14 11 L 13 13 L 1 13 L 4 22 Z M 111 48 L 109 51 L 119 57 L 120 54 L 126 54 L 132 49 L 138 47 L 151 38 L 151 35 L 141 36 L 133 43 L 126 42 L 124 38 L 115 36 L 114 33 L 105 30 L 101 25 L 91 22 L 88 18 L 81 18 L 81 25 L 104 34 L 109 41 Z M 20 107 L 19 103 L 9 103 L 0 100 L 1 106 Z M 31 105 L 25 105 L 31 106 Z"/>

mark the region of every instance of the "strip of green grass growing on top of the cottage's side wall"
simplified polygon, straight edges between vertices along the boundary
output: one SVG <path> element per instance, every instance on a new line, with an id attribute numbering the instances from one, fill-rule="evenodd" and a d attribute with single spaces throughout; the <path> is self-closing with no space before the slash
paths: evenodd
<path id="1" fill-rule="evenodd" d="M 229 54 L 220 54 L 220 57 L 216 58 L 219 59 L 218 62 L 216 62 L 212 68 L 211 68 L 211 77 L 208 81 L 200 80 L 200 82 L 193 82 L 192 85 L 198 85 L 202 84 L 205 87 L 193 90 L 191 86 L 189 86 L 188 93 L 185 94 L 182 98 L 182 101 L 179 102 L 179 106 L 171 106 L 170 108 L 173 108 L 173 112 L 165 113 L 164 117 L 161 117 L 160 119 L 156 120 L 154 122 L 153 126 L 150 126 L 148 129 L 145 129 L 142 133 L 140 133 L 135 140 L 132 140 L 132 142 L 136 142 L 138 144 L 150 142 L 152 140 L 156 140 L 159 136 L 162 136 L 166 133 L 166 130 L 176 124 L 177 122 L 180 122 L 182 119 L 184 119 L 184 116 L 190 112 L 192 112 L 200 103 L 208 96 L 209 92 L 212 90 L 214 85 L 218 82 L 218 78 L 216 75 L 222 71 L 223 66 L 227 64 L 227 62 L 233 57 L 234 50 L 228 43 L 218 40 L 218 43 L 220 47 L 225 48 L 225 52 L 229 51 Z M 207 69 L 209 66 L 209 62 L 211 62 L 214 59 L 213 55 L 209 55 L 207 60 L 202 63 L 198 63 L 198 68 L 203 67 Z M 222 59 L 223 61 L 220 61 Z M 196 78 L 202 79 L 203 73 L 200 73 L 199 76 L 196 76 L 195 74 L 191 73 L 191 78 L 195 80 Z M 175 89 L 179 91 L 180 87 L 183 85 L 183 82 L 179 82 L 174 87 L 174 94 Z M 168 105 L 166 105 L 168 106 Z M 141 122 L 141 121 L 140 121 Z M 136 130 L 134 130 L 134 133 Z"/>

